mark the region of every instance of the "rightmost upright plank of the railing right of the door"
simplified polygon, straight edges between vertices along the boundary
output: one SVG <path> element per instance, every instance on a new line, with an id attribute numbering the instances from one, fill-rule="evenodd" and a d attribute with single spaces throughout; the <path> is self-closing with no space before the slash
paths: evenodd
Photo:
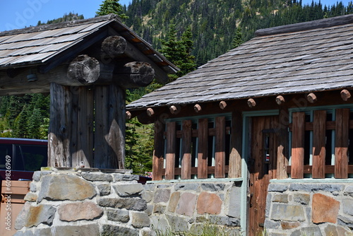
<path id="1" fill-rule="evenodd" d="M 335 178 L 348 177 L 349 109 L 336 110 Z"/>

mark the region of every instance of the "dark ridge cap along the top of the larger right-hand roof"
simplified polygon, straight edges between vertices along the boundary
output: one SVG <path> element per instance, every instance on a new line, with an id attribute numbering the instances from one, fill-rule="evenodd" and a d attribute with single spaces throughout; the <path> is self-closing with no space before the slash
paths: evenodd
<path id="1" fill-rule="evenodd" d="M 292 25 L 281 25 L 273 28 L 265 28 L 256 30 L 255 37 L 277 35 L 281 33 L 294 33 L 304 30 L 313 30 L 318 28 L 329 28 L 337 25 L 347 25 L 353 23 L 353 14 L 345 16 L 336 16 L 332 18 L 325 18 L 321 20 L 312 20 L 307 22 L 295 23 Z"/>

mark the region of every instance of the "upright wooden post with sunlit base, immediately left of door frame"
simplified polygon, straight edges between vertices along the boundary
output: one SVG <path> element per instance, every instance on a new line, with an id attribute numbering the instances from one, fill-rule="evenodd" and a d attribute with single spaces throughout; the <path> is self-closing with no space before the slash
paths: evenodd
<path id="1" fill-rule="evenodd" d="M 231 151 L 229 154 L 229 178 L 241 177 L 241 148 L 243 135 L 243 121 L 241 112 L 232 112 L 232 128 L 231 128 Z"/>

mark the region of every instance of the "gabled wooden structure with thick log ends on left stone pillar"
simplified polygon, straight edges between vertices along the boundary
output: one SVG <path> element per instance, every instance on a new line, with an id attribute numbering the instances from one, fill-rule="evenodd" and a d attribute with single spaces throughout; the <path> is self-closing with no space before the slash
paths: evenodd
<path id="1" fill-rule="evenodd" d="M 52 167 L 124 168 L 125 89 L 177 70 L 116 15 L 0 33 L 0 95 L 50 93 Z"/>

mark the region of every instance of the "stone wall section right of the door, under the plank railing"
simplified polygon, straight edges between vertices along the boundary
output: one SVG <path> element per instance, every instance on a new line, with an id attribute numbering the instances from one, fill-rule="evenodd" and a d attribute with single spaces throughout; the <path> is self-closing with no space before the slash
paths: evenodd
<path id="1" fill-rule="evenodd" d="M 271 183 L 269 235 L 353 235 L 353 183 Z"/>

